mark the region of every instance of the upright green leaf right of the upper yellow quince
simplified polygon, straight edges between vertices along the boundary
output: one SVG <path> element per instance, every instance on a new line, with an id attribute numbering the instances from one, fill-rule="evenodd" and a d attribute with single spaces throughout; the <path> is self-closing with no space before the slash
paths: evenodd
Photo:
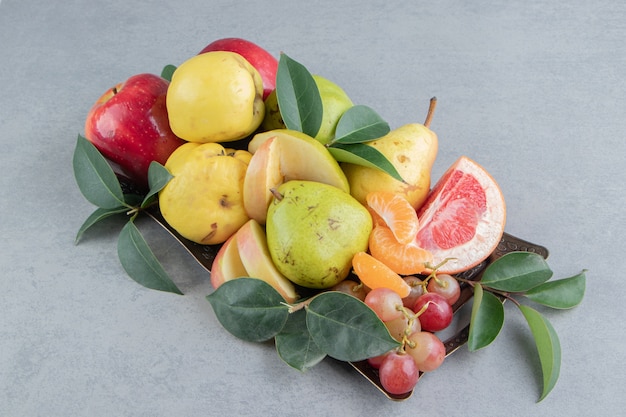
<path id="1" fill-rule="evenodd" d="M 311 73 L 299 62 L 280 55 L 276 73 L 278 109 L 288 129 L 315 137 L 322 125 L 324 107 Z"/>

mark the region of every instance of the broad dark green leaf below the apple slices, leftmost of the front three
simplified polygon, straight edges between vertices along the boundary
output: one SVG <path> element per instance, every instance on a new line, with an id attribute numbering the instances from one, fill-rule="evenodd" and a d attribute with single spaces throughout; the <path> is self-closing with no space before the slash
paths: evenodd
<path id="1" fill-rule="evenodd" d="M 222 326 L 232 335 L 249 342 L 273 338 L 289 317 L 284 298 L 271 285 L 257 278 L 226 281 L 206 298 Z"/>

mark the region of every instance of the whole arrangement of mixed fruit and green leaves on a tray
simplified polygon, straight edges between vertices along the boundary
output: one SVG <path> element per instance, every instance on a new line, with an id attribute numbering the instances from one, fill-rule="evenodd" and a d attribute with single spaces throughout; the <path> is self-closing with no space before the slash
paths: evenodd
<path id="1" fill-rule="evenodd" d="M 431 187 L 435 105 L 423 124 L 392 130 L 286 54 L 216 40 L 160 76 L 130 77 L 89 111 L 73 167 L 97 209 L 76 241 L 127 216 L 124 269 L 182 294 L 134 224 L 148 214 L 210 271 L 207 300 L 233 335 L 273 339 L 301 371 L 327 356 L 350 362 L 392 399 L 460 344 L 489 345 L 510 300 L 535 339 L 543 399 L 561 346 L 522 301 L 574 307 L 584 271 L 550 280 L 547 251 L 505 233 L 500 188 L 473 159 Z M 465 333 L 443 340 L 470 299 Z"/>

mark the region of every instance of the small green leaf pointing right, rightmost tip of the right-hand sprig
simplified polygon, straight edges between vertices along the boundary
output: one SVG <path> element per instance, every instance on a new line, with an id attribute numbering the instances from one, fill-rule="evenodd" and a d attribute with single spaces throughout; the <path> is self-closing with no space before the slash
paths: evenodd
<path id="1" fill-rule="evenodd" d="M 548 281 L 538 285 L 524 294 L 536 303 L 548 307 L 566 309 L 580 304 L 585 296 L 585 272 L 573 277 Z"/>

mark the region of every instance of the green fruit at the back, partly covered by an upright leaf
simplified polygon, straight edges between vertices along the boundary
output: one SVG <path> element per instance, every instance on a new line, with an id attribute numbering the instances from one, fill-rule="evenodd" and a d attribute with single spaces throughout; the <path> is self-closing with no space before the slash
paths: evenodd
<path id="1" fill-rule="evenodd" d="M 334 82 L 313 75 L 320 97 L 322 98 L 322 124 L 320 130 L 315 135 L 315 139 L 322 144 L 327 144 L 335 137 L 335 129 L 337 123 L 343 114 L 354 105 L 348 94 Z M 278 99 L 276 98 L 276 90 L 272 91 L 265 99 L 265 118 L 261 123 L 263 130 L 284 129 L 285 123 L 280 116 L 278 108 Z"/>

